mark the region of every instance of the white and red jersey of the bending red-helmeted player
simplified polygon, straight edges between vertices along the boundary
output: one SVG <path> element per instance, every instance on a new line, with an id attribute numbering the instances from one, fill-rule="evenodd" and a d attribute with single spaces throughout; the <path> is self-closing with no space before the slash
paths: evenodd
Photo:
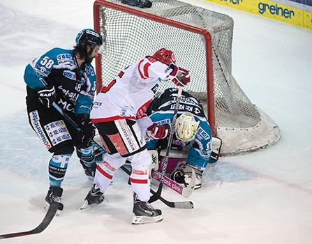
<path id="1" fill-rule="evenodd" d="M 96 96 L 91 121 L 138 120 L 146 116 L 146 109 L 154 97 L 152 88 L 168 77 L 171 71 L 171 68 L 151 56 L 121 70 Z"/>

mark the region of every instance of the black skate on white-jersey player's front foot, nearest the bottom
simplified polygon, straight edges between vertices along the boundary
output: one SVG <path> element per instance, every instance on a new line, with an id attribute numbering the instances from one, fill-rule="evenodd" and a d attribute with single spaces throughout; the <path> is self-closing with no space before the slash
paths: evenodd
<path id="1" fill-rule="evenodd" d="M 160 209 L 154 208 L 147 201 L 141 201 L 135 193 L 133 193 L 133 213 L 135 216 L 132 224 L 147 224 L 163 220 Z"/>

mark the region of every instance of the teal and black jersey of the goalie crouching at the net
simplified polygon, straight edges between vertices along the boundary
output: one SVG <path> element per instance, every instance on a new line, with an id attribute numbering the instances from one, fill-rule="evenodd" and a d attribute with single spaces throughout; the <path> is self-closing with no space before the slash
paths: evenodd
<path id="1" fill-rule="evenodd" d="M 151 120 L 158 125 L 168 123 L 171 125 L 174 114 L 174 107 L 177 100 L 177 89 L 166 89 L 157 96 L 149 105 L 147 114 Z M 179 114 L 189 112 L 193 114 L 196 121 L 200 121 L 198 132 L 195 139 L 191 142 L 182 142 L 173 137 L 171 148 L 188 152 L 188 164 L 198 167 L 201 171 L 205 170 L 211 155 L 211 128 L 206 119 L 202 105 L 197 98 L 183 91 L 179 103 Z M 148 149 L 165 149 L 167 148 L 168 138 L 159 140 L 147 141 Z"/>

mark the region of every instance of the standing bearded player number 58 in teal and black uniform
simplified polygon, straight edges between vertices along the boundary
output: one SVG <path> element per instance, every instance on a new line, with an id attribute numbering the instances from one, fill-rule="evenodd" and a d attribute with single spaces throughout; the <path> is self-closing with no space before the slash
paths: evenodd
<path id="1" fill-rule="evenodd" d="M 91 62 L 103 44 L 102 36 L 92 29 L 77 34 L 73 49 L 54 48 L 27 65 L 24 81 L 27 84 L 29 123 L 45 148 L 53 156 L 49 162 L 50 188 L 47 204 L 58 203 L 63 210 L 61 183 L 74 146 L 85 174 L 94 177 L 96 162 L 91 139 L 94 126 L 89 119 L 94 100 L 96 75 Z M 66 121 L 53 107 L 55 102 L 82 129 L 82 133 Z"/>

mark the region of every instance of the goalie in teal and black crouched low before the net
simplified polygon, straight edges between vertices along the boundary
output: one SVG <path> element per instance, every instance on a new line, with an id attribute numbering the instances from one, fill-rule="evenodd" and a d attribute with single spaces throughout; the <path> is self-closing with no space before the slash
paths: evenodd
<path id="1" fill-rule="evenodd" d="M 174 105 L 177 100 L 177 89 L 170 88 L 159 94 L 149 105 L 147 114 L 157 125 L 172 123 Z M 192 169 L 196 174 L 195 188 L 202 186 L 202 172 L 207 165 L 216 162 L 221 140 L 218 143 L 217 153 L 211 158 L 211 128 L 206 119 L 200 101 L 186 91 L 182 92 L 179 102 L 175 132 L 170 147 L 166 174 L 173 181 L 183 186 L 191 181 Z M 161 171 L 161 160 L 165 156 L 168 139 L 149 139 L 147 148 L 160 152 L 158 171 Z"/>

